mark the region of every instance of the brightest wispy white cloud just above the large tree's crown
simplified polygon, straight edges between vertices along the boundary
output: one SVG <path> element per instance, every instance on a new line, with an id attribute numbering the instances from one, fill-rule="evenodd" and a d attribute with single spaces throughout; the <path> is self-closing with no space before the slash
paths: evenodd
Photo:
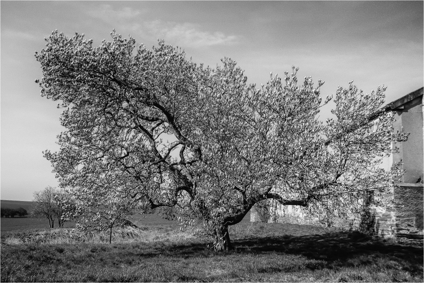
<path id="1" fill-rule="evenodd" d="M 196 47 L 232 44 L 236 40 L 234 35 L 225 35 L 220 31 L 202 31 L 200 27 L 188 22 L 180 24 L 161 20 L 145 21 L 134 24 L 131 28 L 143 35 Z"/>

